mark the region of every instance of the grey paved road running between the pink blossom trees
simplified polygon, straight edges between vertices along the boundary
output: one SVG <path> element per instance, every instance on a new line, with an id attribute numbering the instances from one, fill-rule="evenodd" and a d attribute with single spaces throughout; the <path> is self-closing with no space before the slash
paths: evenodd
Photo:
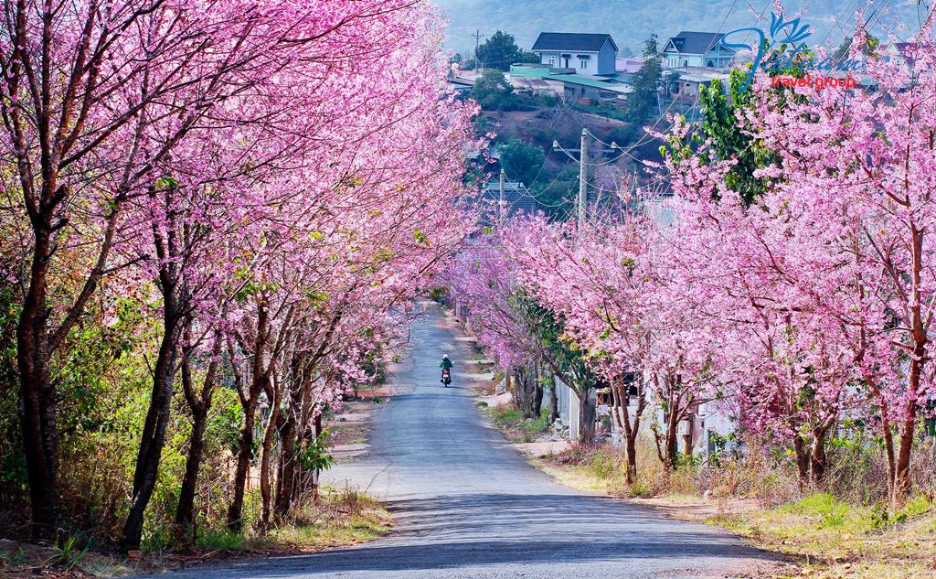
<path id="1" fill-rule="evenodd" d="M 718 529 L 650 509 L 582 497 L 531 468 L 473 408 L 462 361 L 470 344 L 434 304 L 392 377 L 404 393 L 374 419 L 370 454 L 340 465 L 330 483 L 387 501 L 395 529 L 360 547 L 300 557 L 245 559 L 171 573 L 208 577 L 611 578 L 757 576 L 763 554 Z M 453 387 L 438 359 L 455 362 Z"/>

